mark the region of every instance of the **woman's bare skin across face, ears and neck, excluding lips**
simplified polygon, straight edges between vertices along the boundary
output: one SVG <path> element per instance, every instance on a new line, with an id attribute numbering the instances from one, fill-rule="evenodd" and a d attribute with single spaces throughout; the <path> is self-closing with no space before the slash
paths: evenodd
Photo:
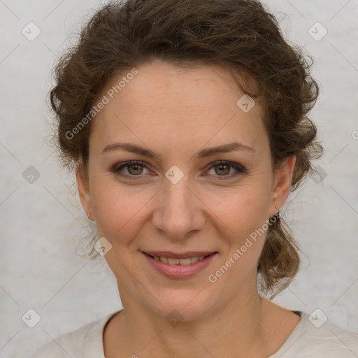
<path id="1" fill-rule="evenodd" d="M 257 102 L 244 113 L 236 105 L 242 95 L 220 66 L 179 69 L 155 60 L 140 66 L 93 120 L 88 178 L 79 166 L 78 189 L 99 238 L 112 245 L 105 258 L 124 307 L 104 330 L 106 357 L 268 357 L 299 322 L 299 315 L 257 292 L 266 233 L 217 282 L 208 281 L 285 203 L 296 161 L 287 158 L 273 171 L 262 108 Z M 194 157 L 232 141 L 255 151 Z M 135 143 L 162 158 L 122 150 L 103 154 L 114 142 Z M 129 160 L 145 164 L 121 170 L 134 180 L 111 171 Z M 241 164 L 246 173 L 212 167 L 217 160 Z M 165 176 L 173 165 L 184 175 L 176 184 Z M 157 273 L 139 250 L 219 255 L 204 271 L 180 280 Z M 176 327 L 166 320 L 174 309 L 183 317 Z"/>

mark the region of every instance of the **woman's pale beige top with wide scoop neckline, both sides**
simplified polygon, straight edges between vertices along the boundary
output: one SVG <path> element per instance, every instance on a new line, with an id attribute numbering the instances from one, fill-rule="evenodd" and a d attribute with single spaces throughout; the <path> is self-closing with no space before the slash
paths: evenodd
<path id="1" fill-rule="evenodd" d="M 118 311 L 120 312 L 120 311 Z M 76 331 L 59 336 L 43 347 L 35 358 L 105 358 L 103 328 L 115 313 L 86 324 Z M 308 314 L 301 315 L 292 334 L 280 349 L 268 358 L 357 358 L 358 334 L 334 327 L 319 320 L 310 322 Z M 317 319 L 317 316 L 315 316 Z"/>

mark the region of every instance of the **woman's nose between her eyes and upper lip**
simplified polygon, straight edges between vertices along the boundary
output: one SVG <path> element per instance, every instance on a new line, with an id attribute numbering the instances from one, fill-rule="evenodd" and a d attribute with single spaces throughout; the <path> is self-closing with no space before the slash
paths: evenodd
<path id="1" fill-rule="evenodd" d="M 206 222 L 205 205 L 201 200 L 199 190 L 191 185 L 188 175 L 176 184 L 165 178 L 157 194 L 153 226 L 173 240 L 183 240 L 194 231 L 200 231 Z"/>

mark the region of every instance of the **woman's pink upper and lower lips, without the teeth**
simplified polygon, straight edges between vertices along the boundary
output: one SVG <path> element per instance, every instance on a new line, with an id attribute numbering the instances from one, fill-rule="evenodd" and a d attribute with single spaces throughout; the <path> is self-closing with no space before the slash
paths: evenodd
<path id="1" fill-rule="evenodd" d="M 159 251 L 159 252 L 161 252 L 161 251 Z M 163 254 L 164 252 L 161 252 L 161 253 Z M 192 254 L 192 253 L 193 252 L 189 252 L 189 254 Z M 202 254 L 205 252 L 199 252 L 199 253 Z M 197 254 L 197 252 L 196 252 L 196 254 Z M 216 257 L 217 254 L 218 254 L 217 252 L 209 252 L 207 257 L 205 257 L 201 261 L 195 262 L 194 264 L 170 265 L 170 264 L 166 264 L 165 262 L 158 261 L 158 260 L 154 259 L 153 257 L 150 257 L 150 255 L 148 255 L 147 253 L 142 251 L 142 255 L 145 257 L 145 259 L 147 259 L 150 266 L 155 268 L 155 270 L 157 272 L 161 273 L 162 275 L 166 276 L 167 278 L 191 278 L 194 275 L 196 275 L 197 273 L 205 270 L 210 265 L 210 263 L 213 261 L 213 259 Z M 176 254 L 176 255 L 178 255 L 178 254 Z M 182 255 L 187 255 L 187 253 L 182 254 Z M 158 255 L 155 255 L 155 256 L 158 256 Z M 164 256 L 164 255 L 160 255 L 160 256 Z M 194 255 L 194 256 L 196 256 L 196 255 Z M 200 255 L 200 256 L 206 256 L 206 255 Z M 166 257 L 168 257 L 168 256 L 166 256 Z M 188 257 L 188 256 L 185 256 L 185 257 Z M 193 257 L 193 256 L 191 256 L 191 257 Z M 173 258 L 180 258 L 180 257 L 173 257 Z M 181 257 L 181 258 L 183 258 L 183 257 Z"/>

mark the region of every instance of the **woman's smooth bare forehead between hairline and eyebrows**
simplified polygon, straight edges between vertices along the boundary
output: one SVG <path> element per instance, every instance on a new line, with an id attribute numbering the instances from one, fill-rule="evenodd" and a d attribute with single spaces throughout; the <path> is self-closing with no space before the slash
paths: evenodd
<path id="1" fill-rule="evenodd" d="M 108 103 L 96 115 L 91 136 L 102 149 L 119 140 L 196 147 L 234 141 L 256 147 L 265 140 L 261 106 L 256 102 L 247 112 L 238 105 L 245 93 L 227 69 L 183 69 L 158 60 L 137 70 L 136 76 L 113 77 L 101 94 Z"/>

